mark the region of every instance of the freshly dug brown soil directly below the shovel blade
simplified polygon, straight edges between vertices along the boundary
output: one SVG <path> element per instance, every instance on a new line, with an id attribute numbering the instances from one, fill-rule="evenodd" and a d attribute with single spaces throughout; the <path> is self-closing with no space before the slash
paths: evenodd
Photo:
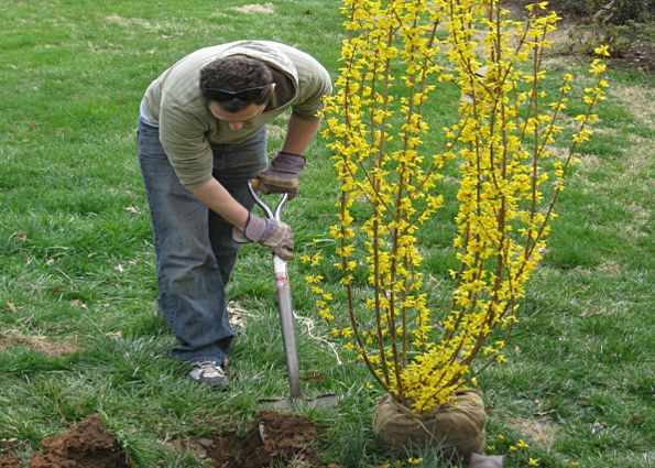
<path id="1" fill-rule="evenodd" d="M 218 436 L 186 440 L 182 448 L 211 460 L 216 468 L 269 468 L 272 466 L 341 468 L 324 464 L 315 451 L 323 428 L 316 422 L 293 414 L 262 411 L 240 435 L 228 429 Z"/>

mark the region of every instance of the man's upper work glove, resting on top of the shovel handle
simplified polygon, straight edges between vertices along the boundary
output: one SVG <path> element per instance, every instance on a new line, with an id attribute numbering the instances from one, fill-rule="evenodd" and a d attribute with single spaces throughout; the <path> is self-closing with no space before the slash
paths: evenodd
<path id="1" fill-rule="evenodd" d="M 269 166 L 258 174 L 252 184 L 263 194 L 288 194 L 288 198 L 298 195 L 298 174 L 306 161 L 299 154 L 280 152 Z"/>

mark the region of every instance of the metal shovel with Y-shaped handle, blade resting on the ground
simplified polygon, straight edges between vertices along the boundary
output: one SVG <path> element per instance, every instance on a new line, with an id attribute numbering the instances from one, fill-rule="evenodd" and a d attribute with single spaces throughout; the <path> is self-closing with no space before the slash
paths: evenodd
<path id="1" fill-rule="evenodd" d="M 266 214 L 269 219 L 282 221 L 282 208 L 288 199 L 284 194 L 273 211 L 256 194 L 252 185 L 248 187 L 258 206 Z M 296 349 L 296 336 L 294 330 L 294 314 L 291 303 L 291 287 L 288 283 L 288 272 L 286 261 L 276 254 L 273 254 L 273 271 L 275 273 L 275 290 L 277 292 L 277 308 L 280 313 L 280 325 L 282 328 L 282 342 L 284 345 L 284 355 L 286 356 L 286 369 L 288 373 L 290 395 L 286 399 L 265 400 L 271 406 L 277 410 L 293 410 L 298 405 L 308 407 L 336 407 L 338 403 L 337 395 L 327 394 L 315 399 L 307 399 L 301 391 L 298 352 Z"/>

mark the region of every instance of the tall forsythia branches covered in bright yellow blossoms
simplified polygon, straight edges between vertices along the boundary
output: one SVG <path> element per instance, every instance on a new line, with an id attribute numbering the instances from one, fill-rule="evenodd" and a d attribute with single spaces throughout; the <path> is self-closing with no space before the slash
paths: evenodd
<path id="1" fill-rule="evenodd" d="M 571 163 L 572 151 L 560 161 L 550 148 L 572 77 L 563 77 L 555 96 L 545 91 L 543 57 L 559 20 L 545 2 L 528 6 L 524 21 L 495 0 L 343 0 L 342 12 L 349 37 L 323 112 L 340 184 L 334 268 L 350 322 L 335 335 L 385 391 L 424 413 L 505 362 L 501 335 L 517 322 Z M 591 134 L 604 72 L 596 59 L 598 84 L 585 90 L 574 146 Z M 459 117 L 440 129 L 430 154 L 425 140 L 436 130 L 424 110 L 444 86 L 460 89 Z M 432 311 L 418 235 L 444 205 L 438 184 L 452 160 L 459 268 L 449 309 Z M 307 276 L 330 319 L 321 280 Z"/>

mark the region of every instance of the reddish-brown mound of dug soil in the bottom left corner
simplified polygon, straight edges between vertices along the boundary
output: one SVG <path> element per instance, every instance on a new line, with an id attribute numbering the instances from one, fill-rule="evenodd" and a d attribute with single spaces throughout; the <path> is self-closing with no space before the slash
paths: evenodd
<path id="1" fill-rule="evenodd" d="M 132 464 L 99 417 L 89 417 L 57 437 L 43 439 L 30 468 L 129 468 Z"/>

